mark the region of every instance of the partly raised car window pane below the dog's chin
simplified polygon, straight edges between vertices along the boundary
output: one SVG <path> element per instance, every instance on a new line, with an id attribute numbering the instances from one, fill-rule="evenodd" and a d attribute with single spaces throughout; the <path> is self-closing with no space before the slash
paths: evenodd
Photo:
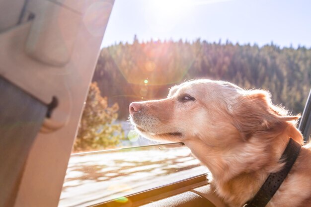
<path id="1" fill-rule="evenodd" d="M 180 143 L 73 154 L 59 207 L 90 206 L 207 173 Z"/>

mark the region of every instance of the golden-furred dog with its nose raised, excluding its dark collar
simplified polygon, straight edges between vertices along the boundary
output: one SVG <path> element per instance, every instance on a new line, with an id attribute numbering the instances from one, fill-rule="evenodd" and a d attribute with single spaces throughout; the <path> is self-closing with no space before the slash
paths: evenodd
<path id="1" fill-rule="evenodd" d="M 169 89 L 167 98 L 133 102 L 130 120 L 144 137 L 183 142 L 211 172 L 215 193 L 230 207 L 253 198 L 280 171 L 289 138 L 303 145 L 291 116 L 268 91 L 198 79 Z M 304 145 L 267 207 L 311 207 L 311 145 Z"/>

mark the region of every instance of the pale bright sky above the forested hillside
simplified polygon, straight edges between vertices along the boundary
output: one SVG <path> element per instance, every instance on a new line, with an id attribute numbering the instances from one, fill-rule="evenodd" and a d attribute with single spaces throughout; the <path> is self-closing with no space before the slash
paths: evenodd
<path id="1" fill-rule="evenodd" d="M 311 48 L 311 0 L 115 0 L 101 47 L 134 35 Z"/>

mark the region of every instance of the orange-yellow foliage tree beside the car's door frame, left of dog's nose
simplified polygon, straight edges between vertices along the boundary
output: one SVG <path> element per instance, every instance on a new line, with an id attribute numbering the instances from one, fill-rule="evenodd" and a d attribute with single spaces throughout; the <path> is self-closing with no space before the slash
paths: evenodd
<path id="1" fill-rule="evenodd" d="M 79 124 L 74 151 L 85 151 L 114 147 L 124 139 L 120 124 L 113 124 L 118 118 L 117 103 L 108 107 L 107 97 L 100 95 L 96 82 L 91 83 Z"/>

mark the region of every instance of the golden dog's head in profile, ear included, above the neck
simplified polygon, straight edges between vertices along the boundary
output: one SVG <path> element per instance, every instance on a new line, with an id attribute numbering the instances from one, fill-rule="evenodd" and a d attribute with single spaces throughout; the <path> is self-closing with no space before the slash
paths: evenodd
<path id="1" fill-rule="evenodd" d="M 244 90 L 208 79 L 174 86 L 167 98 L 130 104 L 131 122 L 144 137 L 159 141 L 200 139 L 213 146 L 230 145 L 256 134 L 279 133 L 298 117 L 271 103 L 264 90 Z"/>

